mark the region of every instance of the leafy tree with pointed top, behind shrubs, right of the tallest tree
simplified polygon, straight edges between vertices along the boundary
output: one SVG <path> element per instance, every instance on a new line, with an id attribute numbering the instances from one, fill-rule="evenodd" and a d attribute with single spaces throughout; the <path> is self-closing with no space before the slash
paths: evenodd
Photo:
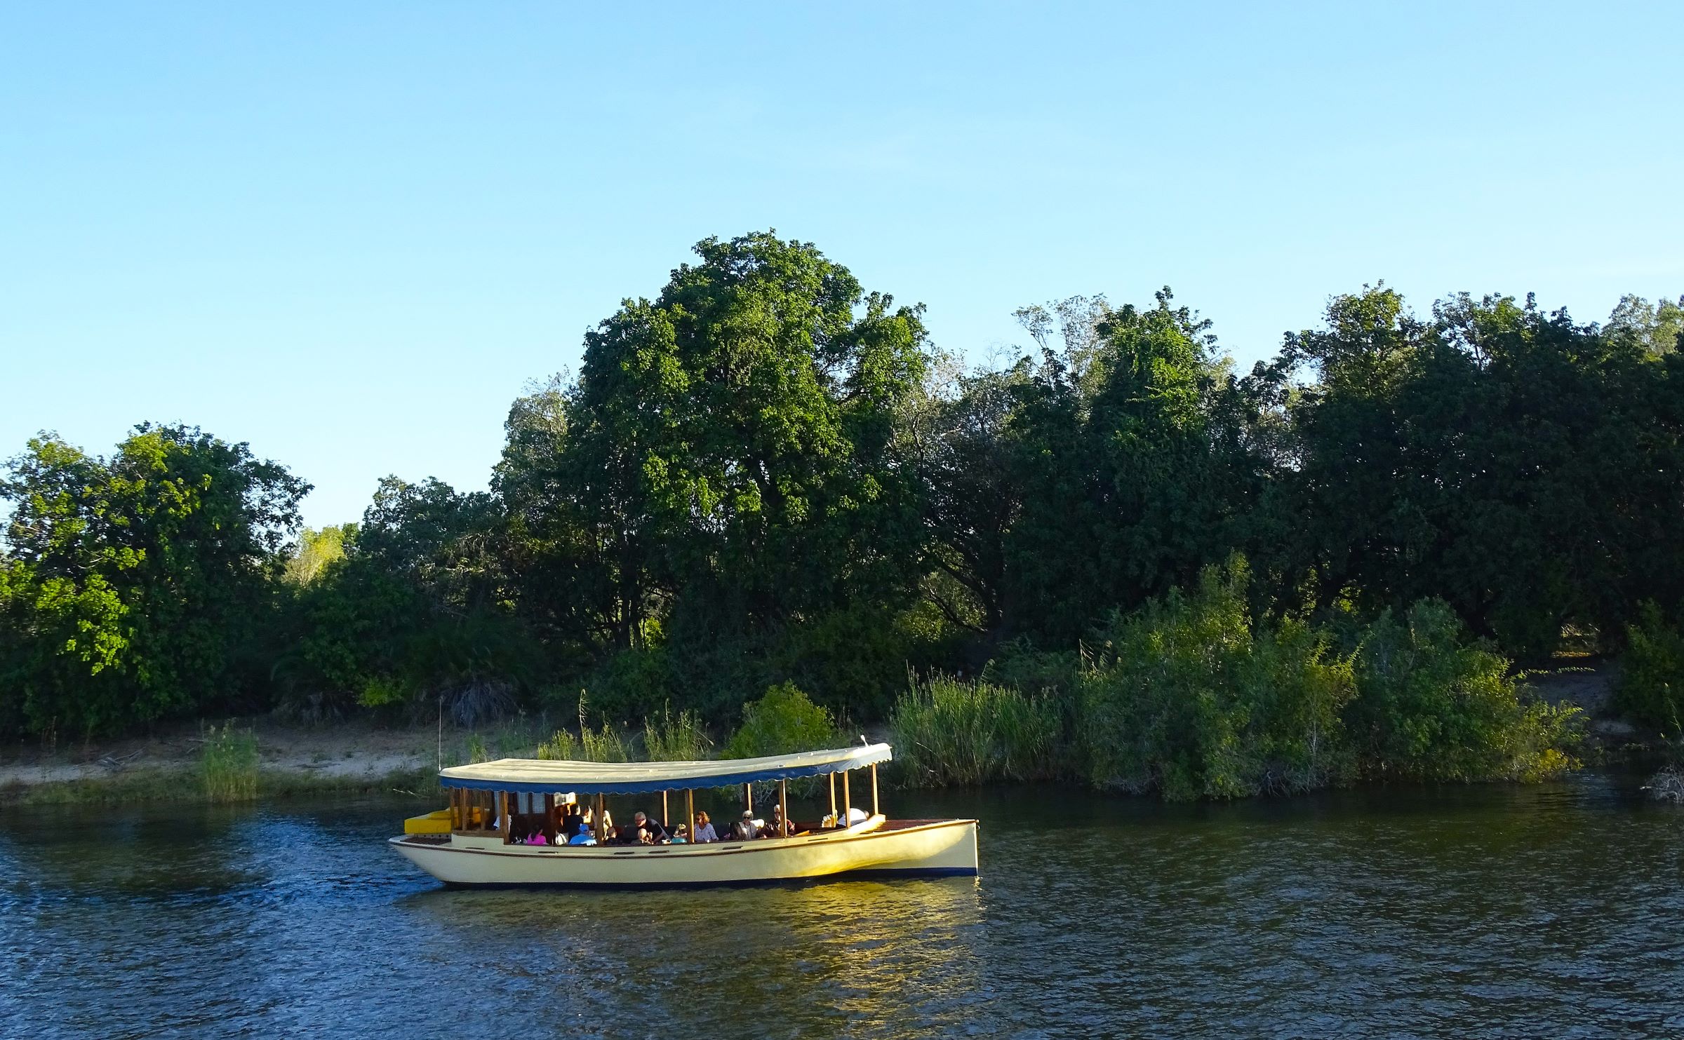
<path id="1" fill-rule="evenodd" d="M 1012 424 L 1012 628 L 1061 646 L 1241 547 L 1271 466 L 1266 395 L 1167 289 L 1095 330 L 1086 355 L 1044 352 Z"/>

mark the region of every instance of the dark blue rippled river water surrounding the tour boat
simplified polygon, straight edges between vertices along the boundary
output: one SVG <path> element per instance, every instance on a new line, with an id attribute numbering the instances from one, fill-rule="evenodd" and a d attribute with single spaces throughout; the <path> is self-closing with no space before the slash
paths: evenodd
<path id="1" fill-rule="evenodd" d="M 1684 809 L 1623 781 L 887 808 L 982 877 L 453 892 L 409 799 L 8 808 L 0 1037 L 1684 1035 Z"/>

